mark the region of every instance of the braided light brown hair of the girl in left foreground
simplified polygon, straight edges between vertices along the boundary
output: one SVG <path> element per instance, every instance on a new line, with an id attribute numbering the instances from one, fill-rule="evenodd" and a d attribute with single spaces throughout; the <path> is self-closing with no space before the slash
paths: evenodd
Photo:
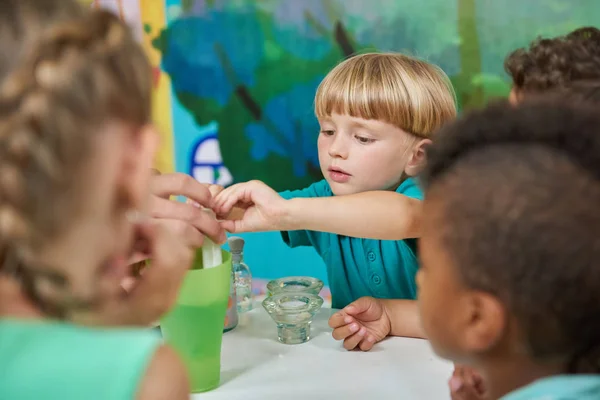
<path id="1" fill-rule="evenodd" d="M 101 128 L 118 120 L 139 129 L 150 110 L 148 60 L 128 28 L 106 11 L 53 27 L 3 82 L 0 273 L 18 276 L 48 314 L 63 316 L 85 299 L 44 299 L 40 284 L 68 293 L 69 279 L 42 266 L 36 252 L 77 214 L 86 179 L 80 171 Z"/>

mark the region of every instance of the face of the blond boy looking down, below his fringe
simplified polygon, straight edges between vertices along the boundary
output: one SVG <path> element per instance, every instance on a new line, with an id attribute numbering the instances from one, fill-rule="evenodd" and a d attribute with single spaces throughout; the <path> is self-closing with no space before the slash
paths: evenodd
<path id="1" fill-rule="evenodd" d="M 394 125 L 349 115 L 319 119 L 321 172 L 335 195 L 395 190 L 425 160 L 424 142 Z"/>

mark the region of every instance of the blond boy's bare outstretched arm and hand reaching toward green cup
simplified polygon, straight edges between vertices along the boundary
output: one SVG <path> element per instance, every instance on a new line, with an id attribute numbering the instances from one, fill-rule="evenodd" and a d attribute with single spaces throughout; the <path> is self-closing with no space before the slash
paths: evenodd
<path id="1" fill-rule="evenodd" d="M 223 226 L 234 233 L 303 229 L 379 240 L 421 233 L 421 201 L 387 191 L 285 200 L 263 182 L 250 181 L 223 190 L 213 208 L 230 220 Z"/>

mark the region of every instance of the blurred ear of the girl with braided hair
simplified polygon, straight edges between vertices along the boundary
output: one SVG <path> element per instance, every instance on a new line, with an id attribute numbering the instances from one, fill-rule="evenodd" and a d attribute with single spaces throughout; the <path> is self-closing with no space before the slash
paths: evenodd
<path id="1" fill-rule="evenodd" d="M 158 142 L 156 128 L 152 125 L 140 128 L 124 140 L 120 189 L 127 199 L 128 209 L 144 210 L 146 207 Z"/>

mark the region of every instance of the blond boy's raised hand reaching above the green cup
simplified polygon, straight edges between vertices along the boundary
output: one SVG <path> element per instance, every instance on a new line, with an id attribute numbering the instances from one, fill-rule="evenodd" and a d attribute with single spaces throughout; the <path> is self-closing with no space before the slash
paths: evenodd
<path id="1" fill-rule="evenodd" d="M 221 222 L 225 230 L 238 233 L 282 230 L 286 205 L 287 201 L 263 182 L 250 181 L 221 191 L 212 208 L 218 217 L 224 218 L 234 207 L 240 209 L 239 217 Z"/>

